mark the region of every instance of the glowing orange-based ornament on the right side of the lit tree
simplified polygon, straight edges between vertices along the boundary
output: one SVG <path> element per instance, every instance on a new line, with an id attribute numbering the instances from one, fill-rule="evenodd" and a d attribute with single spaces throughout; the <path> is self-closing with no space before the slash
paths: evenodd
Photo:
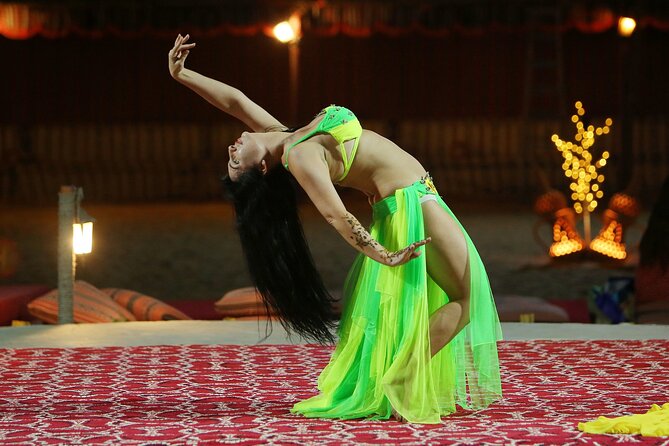
<path id="1" fill-rule="evenodd" d="M 630 195 L 618 193 L 611 197 L 609 208 L 604 211 L 602 230 L 590 243 L 590 249 L 612 259 L 624 260 L 627 251 L 623 229 L 632 224 L 639 210 L 638 201 Z"/>

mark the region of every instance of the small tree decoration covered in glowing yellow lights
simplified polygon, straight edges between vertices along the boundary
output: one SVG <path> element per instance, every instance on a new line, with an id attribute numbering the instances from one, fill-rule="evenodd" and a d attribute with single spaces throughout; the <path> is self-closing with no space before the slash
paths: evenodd
<path id="1" fill-rule="evenodd" d="M 562 170 L 564 175 L 571 180 L 569 189 L 571 189 L 574 210 L 578 214 L 583 214 L 585 241 L 589 244 L 590 213 L 597 207 L 597 200 L 604 196 L 604 191 L 602 191 L 604 175 L 599 173 L 599 169 L 606 165 L 606 160 L 609 158 L 609 152 L 604 150 L 601 158 L 593 162 L 591 148 L 598 136 L 609 133 L 613 121 L 611 118 L 606 118 L 605 125 L 602 127 L 593 125 L 586 127 L 581 120 L 585 114 L 583 104 L 578 101 L 574 105 L 576 114 L 571 117 L 571 122 L 576 125 L 576 135 L 574 135 L 576 142 L 563 141 L 558 135 L 553 135 L 551 140 L 564 158 Z"/>

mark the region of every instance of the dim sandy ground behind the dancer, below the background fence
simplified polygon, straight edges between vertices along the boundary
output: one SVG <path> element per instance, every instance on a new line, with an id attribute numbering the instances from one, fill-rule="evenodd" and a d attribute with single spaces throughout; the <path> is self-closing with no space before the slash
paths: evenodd
<path id="1" fill-rule="evenodd" d="M 371 212 L 356 196 L 344 197 L 366 224 Z M 54 201 L 56 201 L 54 199 Z M 448 199 L 447 199 L 448 201 Z M 609 277 L 632 276 L 647 213 L 625 233 L 629 258 L 551 261 L 536 241 L 550 227 L 529 205 L 450 203 L 476 244 L 496 295 L 577 299 Z M 217 203 L 88 204 L 96 219 L 94 251 L 80 256 L 77 278 L 98 287 L 141 291 L 163 300 L 215 300 L 250 281 L 234 230 L 231 206 Z M 311 204 L 301 207 L 304 229 L 326 285 L 339 290 L 355 251 Z M 593 216 L 593 233 L 600 229 Z M 582 231 L 581 231 L 582 232 Z M 0 238 L 17 242 L 18 270 L 0 284 L 57 283 L 57 209 L 0 206 Z"/>

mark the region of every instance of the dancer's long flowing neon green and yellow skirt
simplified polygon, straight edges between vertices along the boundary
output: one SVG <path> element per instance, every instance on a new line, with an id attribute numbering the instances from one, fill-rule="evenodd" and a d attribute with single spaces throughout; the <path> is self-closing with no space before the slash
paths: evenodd
<path id="1" fill-rule="evenodd" d="M 455 218 L 427 176 L 373 205 L 374 239 L 399 250 L 425 238 L 425 195 Z M 389 267 L 360 254 L 346 279 L 339 343 L 318 379 L 320 394 L 292 412 L 387 419 L 394 409 L 410 422 L 439 423 L 456 405 L 481 409 L 501 398 L 499 319 L 481 258 L 462 232 L 469 251 L 469 324 L 431 358 L 429 318 L 449 298 L 427 274 L 426 256 Z"/>

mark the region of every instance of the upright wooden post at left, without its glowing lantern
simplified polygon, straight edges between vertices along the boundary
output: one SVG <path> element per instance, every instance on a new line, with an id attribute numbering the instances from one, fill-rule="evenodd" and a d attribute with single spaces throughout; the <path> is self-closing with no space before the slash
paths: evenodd
<path id="1" fill-rule="evenodd" d="M 77 188 L 61 186 L 58 193 L 58 323 L 74 322 L 74 274 L 76 257 L 72 249 L 72 224 Z"/>

